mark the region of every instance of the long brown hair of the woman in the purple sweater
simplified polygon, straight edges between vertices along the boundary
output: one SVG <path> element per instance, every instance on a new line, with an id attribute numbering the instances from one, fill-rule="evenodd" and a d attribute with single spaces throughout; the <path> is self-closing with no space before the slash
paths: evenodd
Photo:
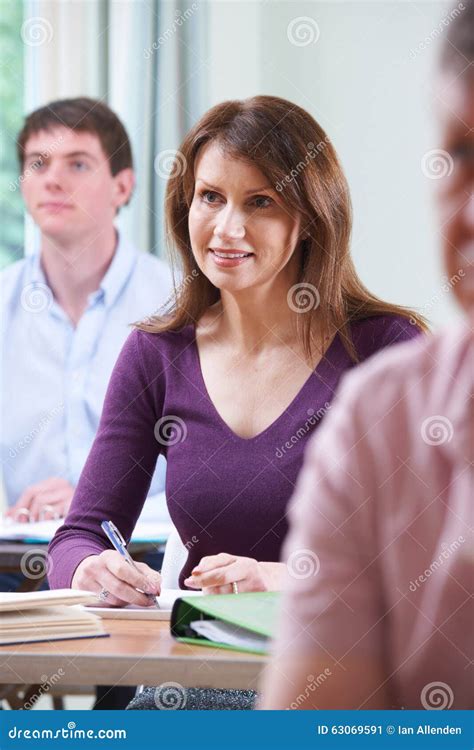
<path id="1" fill-rule="evenodd" d="M 182 142 L 165 199 L 172 268 L 175 279 L 179 268 L 181 282 L 175 283 L 174 298 L 168 306 L 136 324 L 138 328 L 152 333 L 179 330 L 195 324 L 220 299 L 219 289 L 194 259 L 188 230 L 196 158 L 210 141 L 260 169 L 288 211 L 299 212 L 302 217 L 302 233 L 309 236 L 301 240 L 296 304 L 305 305 L 308 311 L 297 314 L 296 322 L 307 356 L 311 357 L 315 345 L 322 347 L 338 331 L 357 361 L 349 324 L 362 318 L 401 315 L 427 330 L 422 316 L 378 299 L 359 279 L 349 252 L 349 188 L 336 152 L 308 112 L 275 96 L 218 104 L 203 115 Z M 311 295 L 318 296 L 318 305 L 311 304 Z"/>

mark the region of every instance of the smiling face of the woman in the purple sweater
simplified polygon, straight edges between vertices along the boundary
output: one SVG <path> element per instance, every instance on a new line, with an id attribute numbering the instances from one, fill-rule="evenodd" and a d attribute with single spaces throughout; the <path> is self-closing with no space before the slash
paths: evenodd
<path id="1" fill-rule="evenodd" d="M 201 271 L 232 293 L 297 279 L 301 220 L 257 167 L 206 144 L 195 164 L 191 246 Z"/>

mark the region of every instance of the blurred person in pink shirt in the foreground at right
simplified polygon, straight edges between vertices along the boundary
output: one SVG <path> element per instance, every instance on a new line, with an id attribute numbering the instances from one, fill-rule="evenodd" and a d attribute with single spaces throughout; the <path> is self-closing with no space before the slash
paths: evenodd
<path id="1" fill-rule="evenodd" d="M 347 375 L 309 444 L 263 709 L 474 707 L 474 2 L 464 6 L 437 97 L 444 266 L 464 320 Z"/>

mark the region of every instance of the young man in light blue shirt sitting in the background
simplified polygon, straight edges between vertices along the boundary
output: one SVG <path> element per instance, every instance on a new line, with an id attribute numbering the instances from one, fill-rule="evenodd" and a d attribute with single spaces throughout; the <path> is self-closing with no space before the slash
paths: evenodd
<path id="1" fill-rule="evenodd" d="M 36 521 L 66 515 L 129 324 L 161 307 L 172 284 L 166 264 L 115 227 L 135 175 L 128 135 L 105 104 L 41 107 L 17 148 L 40 242 L 1 275 L 0 450 L 7 515 Z M 164 474 L 160 460 L 151 495 L 164 490 Z M 147 505 L 169 519 L 163 496 Z M 22 579 L 0 576 L 0 589 Z"/>

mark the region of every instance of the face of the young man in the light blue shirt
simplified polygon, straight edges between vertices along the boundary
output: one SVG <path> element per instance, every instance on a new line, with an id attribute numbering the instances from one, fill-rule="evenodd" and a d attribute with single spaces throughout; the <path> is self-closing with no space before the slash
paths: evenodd
<path id="1" fill-rule="evenodd" d="M 22 194 L 41 233 L 59 244 L 99 236 L 129 199 L 134 177 L 115 177 L 96 135 L 41 130 L 25 145 Z"/>

